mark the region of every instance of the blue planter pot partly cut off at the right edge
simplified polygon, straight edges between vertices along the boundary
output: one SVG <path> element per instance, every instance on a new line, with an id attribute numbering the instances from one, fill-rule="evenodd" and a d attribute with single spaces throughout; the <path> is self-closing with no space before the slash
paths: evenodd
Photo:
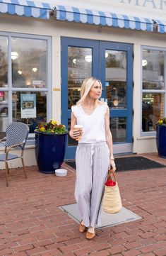
<path id="1" fill-rule="evenodd" d="M 157 125 L 156 127 L 156 145 L 159 157 L 166 158 L 166 126 Z"/>

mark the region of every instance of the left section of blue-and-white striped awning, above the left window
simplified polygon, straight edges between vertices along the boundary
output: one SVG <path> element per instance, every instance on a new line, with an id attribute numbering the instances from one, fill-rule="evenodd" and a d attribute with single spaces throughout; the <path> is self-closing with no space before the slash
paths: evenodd
<path id="1" fill-rule="evenodd" d="M 0 0 L 0 13 L 16 14 L 34 18 L 49 18 L 52 6 L 28 0 Z"/>

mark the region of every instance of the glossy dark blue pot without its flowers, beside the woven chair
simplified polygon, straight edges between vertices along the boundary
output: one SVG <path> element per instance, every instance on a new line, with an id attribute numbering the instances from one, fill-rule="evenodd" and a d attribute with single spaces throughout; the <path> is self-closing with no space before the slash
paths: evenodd
<path id="1" fill-rule="evenodd" d="M 40 172 L 54 173 L 64 162 L 67 133 L 40 133 L 35 131 L 35 157 Z"/>

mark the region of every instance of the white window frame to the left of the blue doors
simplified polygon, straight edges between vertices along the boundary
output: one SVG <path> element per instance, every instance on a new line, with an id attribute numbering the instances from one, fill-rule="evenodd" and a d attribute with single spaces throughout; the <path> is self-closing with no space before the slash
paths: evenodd
<path id="1" fill-rule="evenodd" d="M 44 35 L 31 35 L 24 33 L 11 33 L 11 32 L 0 32 L 0 37 L 5 36 L 8 40 L 8 87 L 1 87 L 0 91 L 8 91 L 8 123 L 13 121 L 12 116 L 12 94 L 13 91 L 45 91 L 47 92 L 47 121 L 52 118 L 52 41 L 51 37 Z M 12 87 L 12 63 L 11 63 L 11 38 L 27 38 L 36 40 L 46 40 L 47 41 L 47 77 L 45 88 L 20 88 Z M 35 133 L 30 133 L 28 135 L 28 140 L 26 145 L 35 145 Z M 0 145 L 0 148 L 4 148 Z"/>

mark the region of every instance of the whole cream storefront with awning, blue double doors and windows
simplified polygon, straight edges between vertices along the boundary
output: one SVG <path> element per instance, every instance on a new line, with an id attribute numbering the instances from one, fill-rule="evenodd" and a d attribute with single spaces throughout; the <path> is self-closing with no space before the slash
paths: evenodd
<path id="1" fill-rule="evenodd" d="M 114 153 L 155 152 L 155 123 L 165 115 L 166 1 L 91 0 L 88 9 L 82 0 L 46 2 L 0 4 L 1 138 L 11 121 L 28 123 L 25 160 L 35 165 L 36 123 L 54 118 L 70 128 L 71 106 L 93 75 L 109 106 Z M 75 150 L 69 138 L 66 159 Z"/>

